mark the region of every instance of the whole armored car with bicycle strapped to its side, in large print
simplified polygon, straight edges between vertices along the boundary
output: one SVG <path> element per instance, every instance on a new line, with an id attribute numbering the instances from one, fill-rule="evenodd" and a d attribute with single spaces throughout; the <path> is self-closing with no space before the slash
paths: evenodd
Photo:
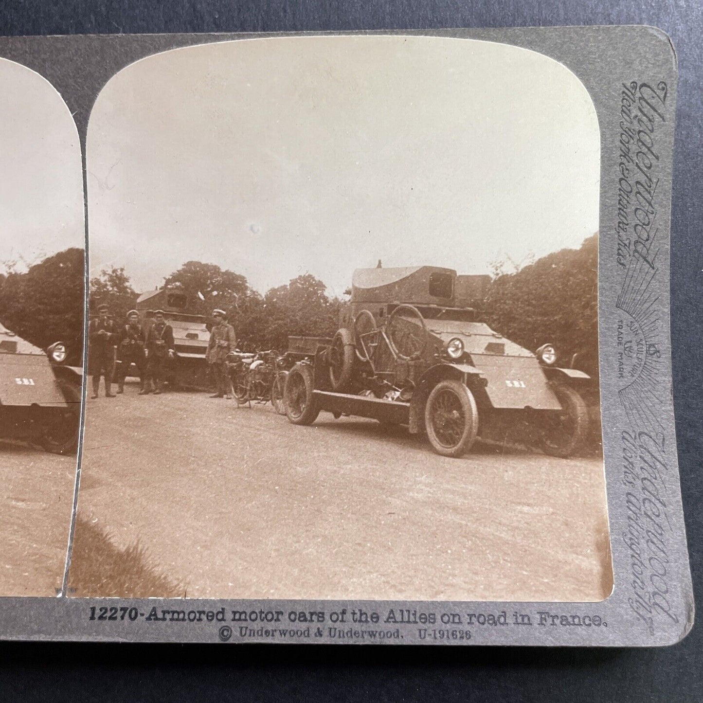
<path id="1" fill-rule="evenodd" d="M 434 266 L 354 271 L 334 337 L 290 340 L 288 420 L 309 425 L 328 411 L 408 425 L 452 457 L 479 435 L 522 427 L 544 452 L 571 456 L 588 432 L 593 382 L 557 367 L 550 344 L 532 352 L 482 321 L 489 281 Z"/>

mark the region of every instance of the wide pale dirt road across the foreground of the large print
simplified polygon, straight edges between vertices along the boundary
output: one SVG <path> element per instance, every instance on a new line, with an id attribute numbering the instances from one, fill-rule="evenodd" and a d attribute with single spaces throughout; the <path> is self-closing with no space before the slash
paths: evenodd
<path id="1" fill-rule="evenodd" d="M 206 394 L 89 401 L 79 512 L 190 597 L 602 600 L 602 461 Z M 101 595 L 95 593 L 93 595 Z"/>

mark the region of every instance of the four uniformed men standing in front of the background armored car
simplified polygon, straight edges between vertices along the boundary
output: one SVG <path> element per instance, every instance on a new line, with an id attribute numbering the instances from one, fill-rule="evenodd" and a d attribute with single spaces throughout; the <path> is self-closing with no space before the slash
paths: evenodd
<path id="1" fill-rule="evenodd" d="M 205 355 L 217 384 L 217 392 L 211 397 L 231 399 L 232 382 L 226 358 L 236 348 L 237 339 L 224 310 L 214 310 L 212 317 L 214 325 Z M 98 317 L 89 323 L 88 339 L 88 373 L 93 381 L 93 399 L 98 397 L 101 376 L 105 379 L 106 398 L 115 397 L 113 380 L 117 382 L 117 393 L 123 393 L 124 379 L 132 364 L 139 375 L 139 395 L 162 393 L 167 359 L 175 356 L 173 328 L 167 323 L 163 310 L 154 312 L 153 325 L 145 329 L 138 311 L 130 310 L 126 323 L 118 326 L 108 317 L 108 306 L 101 304 Z"/>

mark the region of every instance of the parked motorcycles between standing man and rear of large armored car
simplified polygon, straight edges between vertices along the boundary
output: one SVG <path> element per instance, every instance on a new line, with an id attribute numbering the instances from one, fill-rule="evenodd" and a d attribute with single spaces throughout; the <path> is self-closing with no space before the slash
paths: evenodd
<path id="1" fill-rule="evenodd" d="M 232 389 L 238 405 L 265 404 L 271 401 L 279 415 L 285 415 L 283 387 L 288 376 L 285 354 L 275 349 L 267 352 L 240 352 L 236 349 L 227 355 Z"/>

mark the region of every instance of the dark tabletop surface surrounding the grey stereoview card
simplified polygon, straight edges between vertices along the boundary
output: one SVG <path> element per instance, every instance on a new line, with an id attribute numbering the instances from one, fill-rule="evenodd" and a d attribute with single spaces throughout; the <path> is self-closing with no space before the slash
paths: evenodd
<path id="1" fill-rule="evenodd" d="M 0 34 L 6 35 L 611 24 L 661 27 L 678 54 L 671 332 L 683 505 L 699 609 L 703 581 L 703 4 L 699 0 L 0 0 Z M 701 632 L 697 624 L 682 643 L 657 650 L 1 643 L 0 699 L 696 702 L 703 701 Z"/>

